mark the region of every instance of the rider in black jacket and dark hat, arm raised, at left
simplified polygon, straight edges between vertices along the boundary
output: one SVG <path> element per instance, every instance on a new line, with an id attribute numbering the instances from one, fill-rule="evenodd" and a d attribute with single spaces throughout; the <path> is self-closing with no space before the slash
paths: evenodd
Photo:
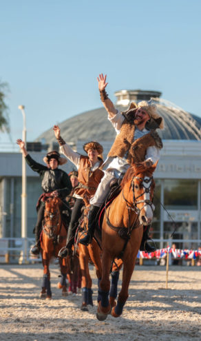
<path id="1" fill-rule="evenodd" d="M 62 170 L 59 169 L 59 165 L 64 165 L 67 160 L 62 158 L 58 152 L 53 150 L 52 152 L 47 153 L 43 161 L 47 164 L 41 165 L 41 163 L 36 163 L 30 154 L 28 154 L 25 149 L 25 143 L 21 141 L 19 138 L 17 140 L 17 144 L 21 148 L 23 156 L 25 157 L 25 161 L 32 168 L 34 172 L 38 172 L 42 183 L 41 187 L 43 189 L 43 194 L 39 198 L 39 202 L 37 204 L 37 222 L 34 228 L 36 244 L 32 247 L 31 252 L 34 255 L 39 254 L 40 252 L 40 235 L 41 235 L 41 223 L 44 216 L 44 208 L 45 208 L 45 194 L 50 194 L 50 196 L 61 196 L 61 198 L 65 198 L 68 194 L 70 194 L 72 190 L 72 184 L 70 182 L 70 177 Z M 63 207 L 61 209 L 66 209 L 67 203 L 63 200 Z"/>

